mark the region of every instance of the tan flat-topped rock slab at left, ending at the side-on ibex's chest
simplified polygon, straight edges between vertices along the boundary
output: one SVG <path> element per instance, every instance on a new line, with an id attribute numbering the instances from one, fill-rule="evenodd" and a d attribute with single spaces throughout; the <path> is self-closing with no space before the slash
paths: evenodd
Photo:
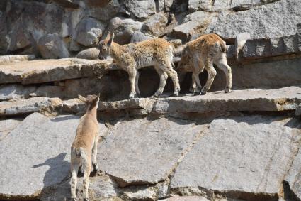
<path id="1" fill-rule="evenodd" d="M 0 65 L 0 84 L 22 82 L 53 82 L 79 77 L 94 77 L 116 66 L 108 61 L 66 58 L 60 60 L 33 60 Z"/>

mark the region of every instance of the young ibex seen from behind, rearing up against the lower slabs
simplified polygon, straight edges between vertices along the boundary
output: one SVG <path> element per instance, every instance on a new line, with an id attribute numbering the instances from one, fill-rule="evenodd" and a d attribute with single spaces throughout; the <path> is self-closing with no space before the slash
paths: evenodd
<path id="1" fill-rule="evenodd" d="M 76 200 L 76 183 L 77 173 L 81 167 L 81 171 L 84 173 L 84 192 L 83 197 L 85 200 L 89 199 L 89 175 L 91 173 L 91 156 L 93 171 L 98 170 L 96 162 L 97 155 L 97 143 L 98 143 L 98 121 L 96 119 L 97 107 L 99 102 L 99 94 L 89 95 L 88 97 L 81 97 L 79 99 L 86 103 L 88 107 L 86 114 L 79 120 L 79 126 L 77 126 L 76 136 L 71 147 L 71 197 L 72 200 Z"/>

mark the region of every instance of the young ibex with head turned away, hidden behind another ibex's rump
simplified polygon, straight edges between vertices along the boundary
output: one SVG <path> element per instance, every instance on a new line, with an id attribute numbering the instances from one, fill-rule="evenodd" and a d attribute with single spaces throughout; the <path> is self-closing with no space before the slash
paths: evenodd
<path id="1" fill-rule="evenodd" d="M 225 72 L 227 82 L 225 92 L 229 92 L 232 87 L 232 73 L 231 67 L 227 64 L 225 41 L 214 33 L 200 36 L 185 45 L 177 71 L 193 72 L 191 90 L 195 94 L 206 94 L 216 75 L 213 64 Z M 208 72 L 208 80 L 202 88 L 198 75 L 204 68 Z M 195 82 L 198 87 L 195 86 Z"/>

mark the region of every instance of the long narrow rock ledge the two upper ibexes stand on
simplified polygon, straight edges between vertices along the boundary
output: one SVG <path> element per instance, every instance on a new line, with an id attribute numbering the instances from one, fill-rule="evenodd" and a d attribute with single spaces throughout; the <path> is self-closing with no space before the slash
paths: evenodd
<path id="1" fill-rule="evenodd" d="M 231 93 L 210 92 L 204 96 L 125 99 L 99 102 L 98 110 L 116 112 L 126 110 L 144 114 L 189 114 L 202 112 L 277 112 L 295 110 L 301 104 L 300 87 L 280 89 L 234 90 Z M 79 99 L 62 101 L 59 98 L 34 97 L 0 102 L 0 116 L 48 112 L 84 112 Z"/>

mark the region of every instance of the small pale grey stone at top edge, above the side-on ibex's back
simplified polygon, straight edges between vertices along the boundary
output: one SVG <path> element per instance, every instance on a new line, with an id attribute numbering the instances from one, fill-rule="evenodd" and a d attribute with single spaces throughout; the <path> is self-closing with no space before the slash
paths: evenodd
<path id="1" fill-rule="evenodd" d="M 123 4 L 137 18 L 147 18 L 156 13 L 155 2 L 152 0 L 125 0 Z"/>

